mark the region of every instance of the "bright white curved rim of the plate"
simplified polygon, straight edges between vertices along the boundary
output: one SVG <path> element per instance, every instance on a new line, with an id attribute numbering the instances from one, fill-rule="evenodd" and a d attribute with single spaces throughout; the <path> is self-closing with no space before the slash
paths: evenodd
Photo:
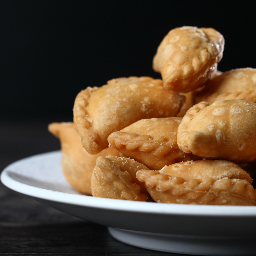
<path id="1" fill-rule="evenodd" d="M 86 195 L 69 194 L 45 188 L 33 187 L 12 179 L 8 172 L 13 166 L 30 161 L 36 157 L 47 157 L 56 154 L 60 156 L 61 150 L 50 151 L 29 156 L 9 164 L 1 173 L 0 180 L 8 188 L 23 195 L 49 201 L 85 206 L 105 210 L 127 211 L 143 214 L 183 215 L 183 216 L 208 216 L 208 217 L 255 217 L 256 206 L 232 206 L 232 205 L 191 205 L 191 204 L 164 204 L 151 202 L 126 201 L 110 198 L 99 198 Z M 158 207 L 155 207 L 159 205 Z M 223 211 L 224 210 L 224 211 Z"/>

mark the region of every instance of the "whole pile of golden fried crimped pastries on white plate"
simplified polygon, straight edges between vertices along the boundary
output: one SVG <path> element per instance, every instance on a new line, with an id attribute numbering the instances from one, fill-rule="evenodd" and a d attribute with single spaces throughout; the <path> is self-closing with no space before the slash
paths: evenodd
<path id="1" fill-rule="evenodd" d="M 153 69 L 87 87 L 74 123 L 52 123 L 62 168 L 81 193 L 173 204 L 256 205 L 256 69 L 217 69 L 223 36 L 172 29 Z M 241 167 L 240 167 L 241 166 Z"/>

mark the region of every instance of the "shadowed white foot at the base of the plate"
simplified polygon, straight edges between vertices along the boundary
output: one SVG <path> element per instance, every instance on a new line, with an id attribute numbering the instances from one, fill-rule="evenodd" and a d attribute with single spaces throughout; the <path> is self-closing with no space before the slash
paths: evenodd
<path id="1" fill-rule="evenodd" d="M 108 228 L 116 240 L 136 247 L 191 255 L 255 255 L 252 240 L 216 237 L 193 237 L 156 234 Z"/>

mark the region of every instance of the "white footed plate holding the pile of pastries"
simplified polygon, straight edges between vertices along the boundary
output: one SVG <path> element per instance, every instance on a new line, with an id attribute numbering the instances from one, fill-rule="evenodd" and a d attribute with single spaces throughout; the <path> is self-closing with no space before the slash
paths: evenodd
<path id="1" fill-rule="evenodd" d="M 7 166 L 5 186 L 55 209 L 109 227 L 126 244 L 196 255 L 255 255 L 256 206 L 185 205 L 84 196 L 60 167 L 61 152 Z"/>

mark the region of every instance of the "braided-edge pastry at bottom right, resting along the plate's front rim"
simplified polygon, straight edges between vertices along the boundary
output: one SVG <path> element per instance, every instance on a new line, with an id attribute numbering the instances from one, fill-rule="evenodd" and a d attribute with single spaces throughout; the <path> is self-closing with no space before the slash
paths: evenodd
<path id="1" fill-rule="evenodd" d="M 136 177 L 158 203 L 256 205 L 250 175 L 226 160 L 188 161 L 160 171 L 139 170 Z"/>

